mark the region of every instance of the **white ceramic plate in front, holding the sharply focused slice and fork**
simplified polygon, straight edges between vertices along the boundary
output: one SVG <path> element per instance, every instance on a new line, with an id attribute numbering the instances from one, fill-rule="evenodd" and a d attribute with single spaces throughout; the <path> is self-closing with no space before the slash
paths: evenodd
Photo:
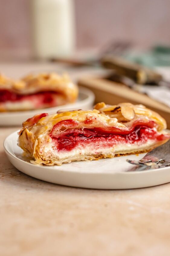
<path id="1" fill-rule="evenodd" d="M 97 161 L 75 161 L 61 166 L 33 165 L 30 164 L 29 159 L 22 157 L 23 151 L 18 147 L 17 140 L 16 131 L 4 141 L 9 161 L 18 170 L 43 181 L 95 189 L 145 188 L 170 182 L 170 167 L 127 171 L 130 168 L 136 168 L 126 162 L 127 156 Z M 128 158 L 139 160 L 144 155 L 130 155 Z"/>

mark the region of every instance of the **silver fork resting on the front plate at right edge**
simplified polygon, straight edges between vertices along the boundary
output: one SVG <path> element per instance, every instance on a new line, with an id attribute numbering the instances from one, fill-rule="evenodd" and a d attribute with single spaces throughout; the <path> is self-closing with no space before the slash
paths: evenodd
<path id="1" fill-rule="evenodd" d="M 130 159 L 127 159 L 126 161 L 132 165 L 148 167 L 151 169 L 170 166 L 170 140 L 151 150 L 139 161 Z"/>

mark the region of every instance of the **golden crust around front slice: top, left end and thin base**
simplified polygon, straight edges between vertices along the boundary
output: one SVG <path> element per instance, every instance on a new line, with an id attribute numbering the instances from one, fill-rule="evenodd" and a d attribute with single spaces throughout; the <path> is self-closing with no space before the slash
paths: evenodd
<path id="1" fill-rule="evenodd" d="M 154 111 L 151 111 L 145 108 L 142 105 L 132 105 L 130 103 L 121 103 L 119 105 L 108 106 L 103 102 L 95 105 L 94 110 L 83 111 L 83 110 L 74 110 L 74 111 L 66 111 L 59 114 L 53 114 L 49 116 L 41 117 L 34 116 L 29 120 L 23 123 L 23 128 L 21 130 L 21 134 L 19 136 L 19 146 L 24 150 L 30 153 L 31 157 L 34 157 L 36 163 L 44 163 L 46 165 L 54 165 L 54 159 L 48 158 L 45 159 L 43 156 L 42 144 L 51 143 L 51 137 L 49 136 L 52 131 L 54 125 L 58 124 L 60 121 L 64 120 L 73 120 L 75 121 L 75 126 L 70 127 L 74 129 L 92 129 L 97 127 L 115 127 L 121 130 L 129 130 L 133 126 L 133 122 L 135 121 L 154 121 L 156 123 L 155 129 L 158 132 L 162 131 L 166 128 L 165 120 L 159 116 Z M 35 122 L 35 124 L 34 124 Z M 62 132 L 68 127 L 62 125 L 59 126 L 56 130 L 57 133 Z M 43 140 L 42 142 L 42 138 Z M 162 141 L 165 142 L 165 141 Z M 55 164 L 62 164 L 64 162 L 69 161 L 80 161 L 80 160 L 94 160 L 99 158 L 108 158 L 114 157 L 114 155 L 124 155 L 124 154 L 133 154 L 140 153 L 144 151 L 148 151 L 151 148 L 154 148 L 158 144 L 162 142 L 152 142 L 148 145 L 143 145 L 142 147 L 129 148 L 127 150 L 120 150 L 117 152 L 115 149 L 105 153 L 105 154 L 84 154 L 84 155 L 75 155 L 72 157 L 66 158 L 58 158 Z"/>

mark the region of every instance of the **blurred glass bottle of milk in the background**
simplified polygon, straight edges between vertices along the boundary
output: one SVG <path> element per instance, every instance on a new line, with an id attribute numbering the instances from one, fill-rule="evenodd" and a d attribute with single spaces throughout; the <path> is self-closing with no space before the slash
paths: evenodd
<path id="1" fill-rule="evenodd" d="M 67 57 L 75 47 L 72 0 L 32 0 L 34 55 L 38 58 Z"/>

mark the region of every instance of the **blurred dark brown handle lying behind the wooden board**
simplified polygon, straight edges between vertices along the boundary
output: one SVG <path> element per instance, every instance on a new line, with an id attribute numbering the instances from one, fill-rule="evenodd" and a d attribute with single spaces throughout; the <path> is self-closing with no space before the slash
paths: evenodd
<path id="1" fill-rule="evenodd" d="M 143 67 L 139 64 L 133 64 L 117 57 L 105 57 L 101 59 L 101 64 L 105 68 L 111 68 L 117 71 L 119 75 L 127 76 L 138 84 L 156 83 L 162 80 L 162 75 L 152 69 Z"/>

